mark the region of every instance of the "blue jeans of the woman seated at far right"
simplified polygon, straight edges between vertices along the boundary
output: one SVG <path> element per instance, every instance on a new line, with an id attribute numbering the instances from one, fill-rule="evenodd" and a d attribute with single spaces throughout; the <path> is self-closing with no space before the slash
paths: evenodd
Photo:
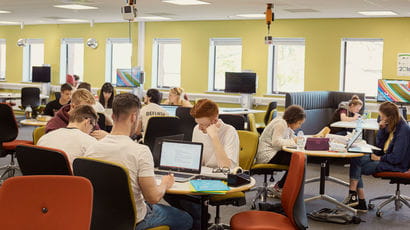
<path id="1" fill-rule="evenodd" d="M 370 155 L 354 157 L 350 161 L 350 179 L 358 180 L 357 189 L 363 188 L 362 175 L 376 173 L 379 161 L 372 161 Z"/>

